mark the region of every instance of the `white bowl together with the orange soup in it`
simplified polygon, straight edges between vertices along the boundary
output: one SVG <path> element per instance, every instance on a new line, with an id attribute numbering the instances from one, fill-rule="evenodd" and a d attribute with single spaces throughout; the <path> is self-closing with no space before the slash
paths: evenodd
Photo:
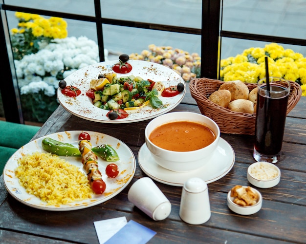
<path id="1" fill-rule="evenodd" d="M 176 172 L 203 167 L 214 154 L 219 137 L 219 127 L 212 119 L 191 112 L 160 115 L 145 129 L 148 156 Z"/>

